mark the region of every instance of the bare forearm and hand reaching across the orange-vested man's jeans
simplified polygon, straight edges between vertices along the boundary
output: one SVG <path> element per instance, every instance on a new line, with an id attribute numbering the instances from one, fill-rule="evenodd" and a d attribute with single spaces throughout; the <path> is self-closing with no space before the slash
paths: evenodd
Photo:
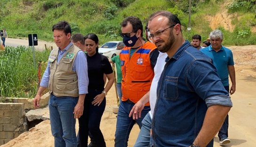
<path id="1" fill-rule="evenodd" d="M 130 111 L 129 117 L 132 116 L 132 118 L 138 119 L 141 117 L 141 111 L 144 109 L 144 106 L 146 103 L 149 102 L 149 92 L 148 91 L 133 107 Z"/>

